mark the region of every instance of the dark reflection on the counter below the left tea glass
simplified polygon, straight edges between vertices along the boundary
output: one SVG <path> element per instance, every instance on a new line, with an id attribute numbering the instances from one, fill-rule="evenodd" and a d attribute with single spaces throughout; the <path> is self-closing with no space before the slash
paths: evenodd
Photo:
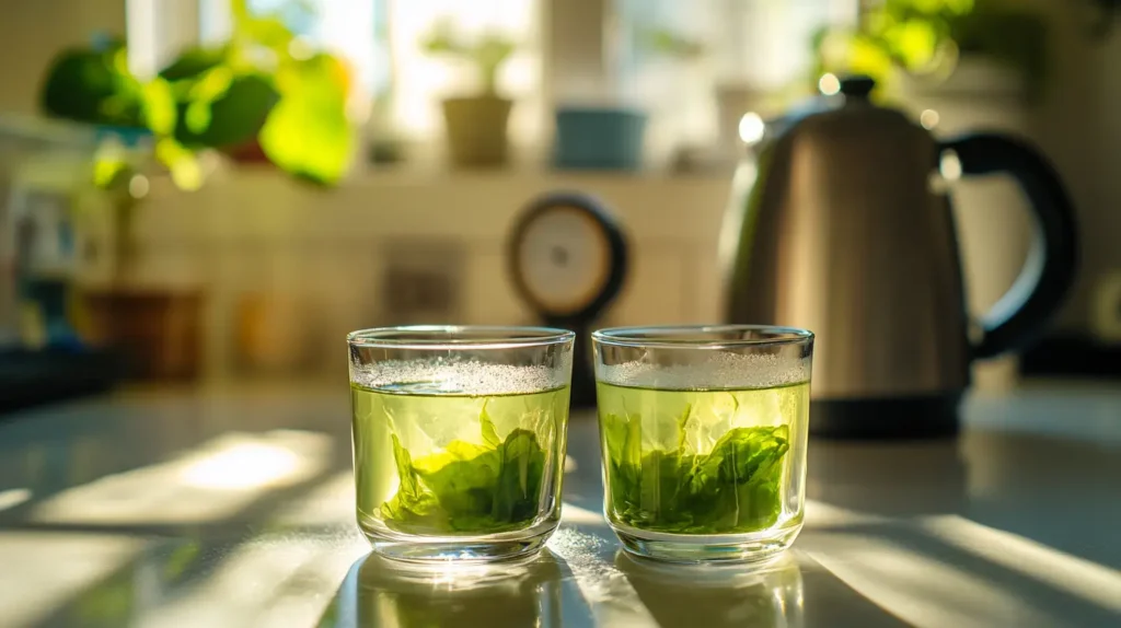
<path id="1" fill-rule="evenodd" d="M 371 553 L 351 568 L 318 626 L 560 627 L 568 579 L 548 550 L 529 561 L 432 566 Z"/>

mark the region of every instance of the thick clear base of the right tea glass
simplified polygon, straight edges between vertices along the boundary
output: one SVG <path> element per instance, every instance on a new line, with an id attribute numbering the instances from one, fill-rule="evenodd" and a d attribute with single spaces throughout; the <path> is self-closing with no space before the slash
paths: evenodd
<path id="1" fill-rule="evenodd" d="M 612 525 L 631 555 L 671 563 L 762 563 L 777 559 L 802 523 L 750 534 L 665 534 Z"/>

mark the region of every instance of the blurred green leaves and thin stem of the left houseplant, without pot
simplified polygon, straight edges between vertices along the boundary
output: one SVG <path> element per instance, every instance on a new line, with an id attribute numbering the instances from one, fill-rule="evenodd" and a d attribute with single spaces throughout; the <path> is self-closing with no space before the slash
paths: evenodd
<path id="1" fill-rule="evenodd" d="M 130 142 L 150 138 L 155 157 L 183 189 L 202 185 L 198 157 L 207 151 L 269 161 L 316 185 L 336 184 L 353 152 L 345 65 L 302 47 L 278 15 L 253 15 L 247 0 L 233 0 L 231 9 L 229 41 L 189 48 L 150 79 L 129 72 L 119 40 L 62 51 L 44 83 L 43 111 Z M 113 231 L 122 251 L 135 250 L 137 198 L 117 193 L 139 167 L 135 156 L 112 148 L 95 158 L 95 184 L 119 199 Z M 128 265 L 131 257 L 124 254 L 118 264 Z"/>

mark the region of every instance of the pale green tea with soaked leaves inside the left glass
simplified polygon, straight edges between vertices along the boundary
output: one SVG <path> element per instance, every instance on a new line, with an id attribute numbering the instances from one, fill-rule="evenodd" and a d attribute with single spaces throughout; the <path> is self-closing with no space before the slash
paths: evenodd
<path id="1" fill-rule="evenodd" d="M 480 535 L 559 516 L 568 390 L 470 396 L 351 386 L 359 525 Z"/>

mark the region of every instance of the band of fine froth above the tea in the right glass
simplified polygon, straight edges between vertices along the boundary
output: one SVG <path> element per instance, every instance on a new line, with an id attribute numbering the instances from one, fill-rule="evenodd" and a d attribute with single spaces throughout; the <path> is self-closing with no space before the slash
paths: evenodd
<path id="1" fill-rule="evenodd" d="M 775 354 L 706 352 L 695 364 L 627 362 L 597 366 L 599 378 L 617 386 L 675 391 L 773 388 L 809 381 L 809 360 Z"/>

